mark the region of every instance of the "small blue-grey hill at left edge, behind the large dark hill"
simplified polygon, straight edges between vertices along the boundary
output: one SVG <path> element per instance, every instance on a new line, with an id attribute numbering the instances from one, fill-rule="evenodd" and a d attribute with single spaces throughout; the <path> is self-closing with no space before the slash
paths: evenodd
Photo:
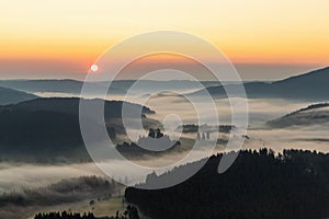
<path id="1" fill-rule="evenodd" d="M 37 97 L 38 96 L 30 93 L 0 87 L 0 105 L 15 104 Z"/>

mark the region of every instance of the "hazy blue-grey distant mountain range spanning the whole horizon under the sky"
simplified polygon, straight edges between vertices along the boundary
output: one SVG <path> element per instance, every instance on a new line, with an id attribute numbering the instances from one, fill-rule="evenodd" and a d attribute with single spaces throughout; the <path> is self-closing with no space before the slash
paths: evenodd
<path id="1" fill-rule="evenodd" d="M 126 94 L 127 90 L 136 82 L 136 80 L 117 80 L 111 84 L 111 94 Z M 248 97 L 281 97 L 326 101 L 329 99 L 329 67 L 310 71 L 305 74 L 291 77 L 274 82 L 245 82 Z M 90 83 L 90 94 L 100 94 L 100 88 L 107 88 L 109 82 L 88 82 Z M 204 91 L 217 97 L 226 97 L 226 91 L 218 81 L 148 81 L 139 80 L 140 88 L 147 88 L 150 91 L 162 90 L 182 90 L 182 89 L 201 89 L 193 91 L 190 95 L 203 95 Z M 227 83 L 226 88 L 235 92 L 236 82 Z M 54 92 L 80 94 L 82 81 L 76 80 L 4 80 L 0 81 L 0 87 L 15 89 L 24 92 Z M 139 92 L 139 91 L 137 91 Z M 235 93 L 234 93 L 235 94 Z"/>

